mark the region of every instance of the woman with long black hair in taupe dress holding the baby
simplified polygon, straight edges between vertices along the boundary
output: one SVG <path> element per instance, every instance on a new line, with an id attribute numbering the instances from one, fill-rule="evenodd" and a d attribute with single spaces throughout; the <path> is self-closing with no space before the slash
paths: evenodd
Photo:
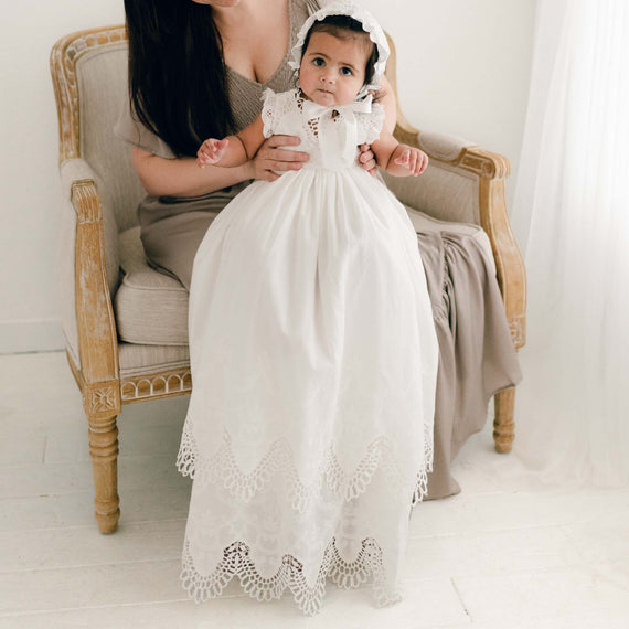
<path id="1" fill-rule="evenodd" d="M 294 86 L 289 51 L 322 2 L 125 0 L 135 113 L 127 107 L 115 131 L 132 145 L 134 167 L 148 192 L 138 207 L 147 258 L 186 288 L 196 249 L 217 213 L 252 179 L 273 180 L 276 171 L 299 169 L 308 159 L 280 148 L 298 141 L 286 136 L 269 138 L 236 168 L 200 169 L 193 156 L 206 138 L 250 124 L 264 89 Z M 382 85 L 386 126 L 393 129 L 393 90 L 386 78 Z M 364 168 L 375 171 L 373 153 L 361 149 Z M 440 351 L 427 498 L 441 498 L 460 491 L 450 461 L 484 424 L 489 397 L 521 375 L 495 277 L 477 241 L 450 233 L 417 237 Z"/>

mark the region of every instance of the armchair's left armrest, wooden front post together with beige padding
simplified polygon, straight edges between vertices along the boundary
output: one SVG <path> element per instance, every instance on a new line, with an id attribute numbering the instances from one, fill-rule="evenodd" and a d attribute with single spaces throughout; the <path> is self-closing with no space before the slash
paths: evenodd
<path id="1" fill-rule="evenodd" d="M 65 205 L 63 223 L 66 233 L 62 234 L 62 247 L 72 247 L 66 259 L 74 263 L 70 265 L 73 268 L 66 268 L 64 274 L 66 282 L 74 275 L 72 294 L 78 356 L 71 358 L 79 359 L 74 367 L 79 372 L 77 374 L 75 371 L 75 375 L 81 379 L 82 388 L 100 386 L 119 377 L 116 322 L 106 265 L 104 204 L 96 190 L 94 172 L 84 160 L 64 162 L 61 175 L 64 198 L 70 200 L 70 207 L 67 203 Z M 74 216 L 67 215 L 68 210 L 73 211 Z M 72 226 L 74 234 L 68 233 Z M 117 234 L 110 237 L 117 241 Z M 115 246 L 111 248 L 117 253 Z M 67 250 L 62 252 L 62 259 L 67 254 Z M 103 391 L 102 386 L 98 391 Z M 98 409 L 99 401 L 96 397 L 87 396 L 92 413 Z M 114 405 L 119 406 L 119 403 Z M 105 406 L 110 408 L 111 401 L 107 401 Z"/>

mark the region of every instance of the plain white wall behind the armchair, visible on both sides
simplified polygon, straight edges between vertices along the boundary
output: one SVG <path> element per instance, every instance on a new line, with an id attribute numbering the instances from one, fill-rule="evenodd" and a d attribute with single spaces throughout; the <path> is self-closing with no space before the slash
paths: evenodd
<path id="1" fill-rule="evenodd" d="M 510 201 L 524 125 L 534 0 L 363 0 L 363 4 L 396 42 L 401 100 L 408 120 L 505 154 L 513 167 Z M 54 276 L 58 183 L 51 46 L 68 32 L 122 21 L 122 0 L 20 0 L 3 7 L 2 353 L 63 345 Z"/>

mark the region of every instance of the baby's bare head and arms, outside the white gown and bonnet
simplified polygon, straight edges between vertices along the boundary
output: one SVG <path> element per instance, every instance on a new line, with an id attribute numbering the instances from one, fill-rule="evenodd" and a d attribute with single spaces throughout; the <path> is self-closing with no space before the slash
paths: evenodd
<path id="1" fill-rule="evenodd" d="M 347 15 L 316 21 L 306 35 L 299 66 L 299 93 L 309 100 L 334 109 L 360 98 L 373 77 L 379 52 L 362 24 Z M 364 99 L 364 98 L 363 98 Z M 373 104 L 374 110 L 381 107 Z M 198 152 L 198 164 L 235 167 L 252 159 L 265 140 L 263 116 L 235 136 L 205 140 Z M 399 143 L 382 128 L 371 143 L 377 163 L 386 172 L 418 175 L 428 166 L 428 156 Z"/>

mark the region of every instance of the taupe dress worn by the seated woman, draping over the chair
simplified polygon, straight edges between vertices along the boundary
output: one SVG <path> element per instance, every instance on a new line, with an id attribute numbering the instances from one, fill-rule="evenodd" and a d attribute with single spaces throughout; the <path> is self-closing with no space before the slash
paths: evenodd
<path id="1" fill-rule="evenodd" d="M 317 0 L 291 0 L 290 47 Z M 262 94 L 294 86 L 286 55 L 275 74 L 259 84 L 227 68 L 237 129 L 262 109 Z M 163 158 L 170 148 L 125 109 L 115 134 Z M 196 198 L 147 196 L 138 206 L 141 238 L 149 263 L 190 288 L 194 255 L 207 227 L 250 182 Z M 418 233 L 419 252 L 439 341 L 435 408 L 435 459 L 427 499 L 458 493 L 450 463 L 466 439 L 486 423 L 487 405 L 501 388 L 518 384 L 521 372 L 493 269 L 478 242 L 454 233 Z"/>

